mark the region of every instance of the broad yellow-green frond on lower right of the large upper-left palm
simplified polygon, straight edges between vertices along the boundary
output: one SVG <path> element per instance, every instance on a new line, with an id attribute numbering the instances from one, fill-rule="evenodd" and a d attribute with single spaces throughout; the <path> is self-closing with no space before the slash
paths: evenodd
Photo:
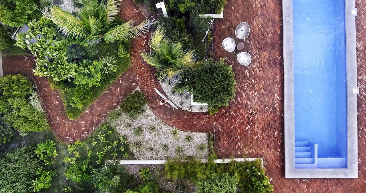
<path id="1" fill-rule="evenodd" d="M 132 21 L 128 21 L 121 25 L 117 25 L 109 29 L 107 33 L 104 34 L 103 38 L 106 42 L 112 42 L 115 40 L 128 40 L 128 34 L 130 29 L 134 24 Z"/>

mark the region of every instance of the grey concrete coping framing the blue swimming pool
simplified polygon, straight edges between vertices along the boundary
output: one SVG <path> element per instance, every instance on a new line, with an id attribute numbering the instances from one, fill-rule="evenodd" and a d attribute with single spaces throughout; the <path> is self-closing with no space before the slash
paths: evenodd
<path id="1" fill-rule="evenodd" d="M 295 169 L 294 34 L 292 0 L 283 0 L 285 178 L 357 178 L 357 63 L 355 0 L 345 0 L 347 60 L 347 168 Z"/>

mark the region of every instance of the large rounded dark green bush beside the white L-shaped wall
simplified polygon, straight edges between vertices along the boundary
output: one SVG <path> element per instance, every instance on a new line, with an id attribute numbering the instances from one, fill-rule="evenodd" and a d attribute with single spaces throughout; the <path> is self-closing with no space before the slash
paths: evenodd
<path id="1" fill-rule="evenodd" d="M 188 78 L 179 83 L 175 90 L 193 89 L 194 100 L 209 104 L 210 114 L 215 114 L 220 106 L 228 106 L 235 97 L 235 75 L 232 67 L 224 63 L 224 59 L 198 67 Z"/>

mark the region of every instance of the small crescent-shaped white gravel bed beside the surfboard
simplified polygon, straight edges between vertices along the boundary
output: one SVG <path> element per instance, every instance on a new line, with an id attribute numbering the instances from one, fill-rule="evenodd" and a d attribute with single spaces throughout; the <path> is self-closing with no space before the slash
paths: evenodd
<path id="1" fill-rule="evenodd" d="M 191 93 L 184 90 L 182 93 L 177 93 L 173 90 L 173 84 L 168 84 L 167 82 L 160 82 L 161 87 L 165 94 L 167 94 L 168 99 L 170 99 L 177 107 L 182 110 L 191 112 L 207 112 L 207 105 L 191 105 Z"/>

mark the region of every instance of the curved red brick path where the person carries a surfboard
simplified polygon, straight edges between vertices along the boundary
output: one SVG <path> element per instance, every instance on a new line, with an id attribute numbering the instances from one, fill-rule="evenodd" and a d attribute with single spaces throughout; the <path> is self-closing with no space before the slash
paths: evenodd
<path id="1" fill-rule="evenodd" d="M 138 23 L 146 19 L 132 0 L 124 0 L 121 7 L 124 9 L 121 16 L 125 21 L 132 19 L 135 23 Z M 136 76 L 136 81 L 141 91 L 145 94 L 149 107 L 160 119 L 172 127 L 177 127 L 185 131 L 213 132 L 214 118 L 208 113 L 191 113 L 182 110 L 173 111 L 172 108 L 157 104 L 156 100 L 160 100 L 161 97 L 156 93 L 154 88 L 163 94 L 164 91 L 154 76 L 154 68 L 143 61 L 140 56 L 141 52 L 149 51 L 149 38 L 150 34 L 142 34 L 138 38 L 133 39 L 131 49 L 132 68 Z"/>

